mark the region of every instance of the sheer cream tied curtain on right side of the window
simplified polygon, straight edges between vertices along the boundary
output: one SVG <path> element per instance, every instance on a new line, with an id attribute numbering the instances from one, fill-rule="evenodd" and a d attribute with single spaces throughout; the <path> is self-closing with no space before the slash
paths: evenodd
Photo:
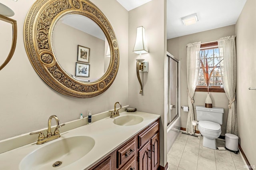
<path id="1" fill-rule="evenodd" d="M 237 135 L 236 115 L 236 36 L 228 36 L 218 40 L 220 56 L 224 60 L 220 63 L 222 82 L 225 93 L 229 100 L 228 121 L 226 133 Z"/>

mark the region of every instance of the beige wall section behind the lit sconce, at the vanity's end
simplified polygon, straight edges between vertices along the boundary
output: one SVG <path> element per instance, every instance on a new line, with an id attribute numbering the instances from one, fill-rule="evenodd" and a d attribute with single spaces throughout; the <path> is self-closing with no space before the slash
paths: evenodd
<path id="1" fill-rule="evenodd" d="M 164 57 L 166 57 L 165 30 L 166 0 L 152 0 L 129 11 L 129 59 L 128 88 L 129 104 L 138 111 L 161 115 L 160 121 L 160 165 L 167 162 L 166 114 L 164 114 Z M 158 9 L 157 12 L 154 12 Z M 132 52 L 137 27 L 144 26 L 149 53 L 141 58 L 148 61 L 148 73 L 140 73 L 144 84 L 144 95 L 140 95 L 140 84 L 136 76 L 136 60 L 139 55 Z M 167 57 L 166 57 L 167 58 Z"/>

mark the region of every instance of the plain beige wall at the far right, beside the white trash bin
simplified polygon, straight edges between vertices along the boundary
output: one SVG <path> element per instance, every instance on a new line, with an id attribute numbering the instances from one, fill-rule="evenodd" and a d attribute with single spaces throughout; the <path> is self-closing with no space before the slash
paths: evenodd
<path id="1" fill-rule="evenodd" d="M 236 23 L 237 119 L 239 143 L 251 165 L 256 166 L 256 1 L 247 0 Z"/>

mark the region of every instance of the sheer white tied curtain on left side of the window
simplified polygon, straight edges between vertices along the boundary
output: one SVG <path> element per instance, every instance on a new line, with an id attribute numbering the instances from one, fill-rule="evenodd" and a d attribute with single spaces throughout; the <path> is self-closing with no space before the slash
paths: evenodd
<path id="1" fill-rule="evenodd" d="M 189 43 L 187 45 L 187 81 L 188 81 L 188 120 L 186 132 L 188 134 L 194 134 L 194 128 L 192 121 L 195 120 L 194 108 L 193 108 L 193 96 L 198 83 L 199 74 L 199 53 L 201 42 Z"/>

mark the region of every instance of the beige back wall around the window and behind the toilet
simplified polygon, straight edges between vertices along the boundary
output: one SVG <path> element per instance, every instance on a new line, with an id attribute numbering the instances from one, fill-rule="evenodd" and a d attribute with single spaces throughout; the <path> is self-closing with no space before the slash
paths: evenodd
<path id="1" fill-rule="evenodd" d="M 204 32 L 199 32 L 196 34 L 190 34 L 187 36 L 181 36 L 178 38 L 172 38 L 167 40 L 167 51 L 170 52 L 174 57 L 180 60 L 180 81 L 181 81 L 181 97 L 180 104 L 181 106 L 188 105 L 188 94 L 187 94 L 187 67 L 186 67 L 186 45 L 188 43 L 193 42 L 211 42 L 216 41 L 221 37 L 225 36 L 233 36 L 235 35 L 235 25 L 226 26 L 222 28 L 217 28 L 214 30 L 208 30 Z M 224 108 L 224 116 L 223 116 L 223 125 L 222 127 L 222 135 L 225 134 L 226 131 L 226 122 L 228 118 L 228 98 L 225 93 L 212 93 L 210 92 L 210 97 L 212 98 L 213 107 L 222 107 Z M 207 92 L 195 92 L 194 94 L 194 107 L 196 105 L 204 106 Z M 195 108 L 194 108 L 195 109 Z M 194 114 L 196 117 L 196 111 L 194 110 Z M 188 112 L 184 112 L 181 110 L 181 127 L 186 128 Z"/>

